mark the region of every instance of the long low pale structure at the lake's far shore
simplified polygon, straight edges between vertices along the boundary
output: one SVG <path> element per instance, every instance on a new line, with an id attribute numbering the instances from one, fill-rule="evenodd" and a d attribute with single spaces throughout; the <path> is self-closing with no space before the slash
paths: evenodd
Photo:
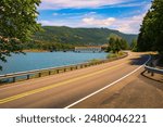
<path id="1" fill-rule="evenodd" d="M 101 52 L 102 48 L 100 46 L 90 47 L 75 47 L 75 52 Z"/>

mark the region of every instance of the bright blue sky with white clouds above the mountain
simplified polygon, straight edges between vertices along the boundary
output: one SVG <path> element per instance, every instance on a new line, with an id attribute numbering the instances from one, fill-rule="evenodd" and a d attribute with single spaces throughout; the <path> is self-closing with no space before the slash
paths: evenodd
<path id="1" fill-rule="evenodd" d="M 41 0 L 38 23 L 138 34 L 150 7 L 151 0 Z"/>

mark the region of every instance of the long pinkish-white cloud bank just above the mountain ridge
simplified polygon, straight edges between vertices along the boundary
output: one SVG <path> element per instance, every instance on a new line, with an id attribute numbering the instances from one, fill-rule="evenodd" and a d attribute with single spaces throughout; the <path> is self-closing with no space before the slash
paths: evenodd
<path id="1" fill-rule="evenodd" d="M 80 21 L 66 18 L 62 21 L 39 21 L 39 23 L 43 26 L 108 27 L 126 34 L 138 34 L 143 16 L 145 14 L 124 18 L 108 17 L 102 20 L 98 17 L 84 17 Z"/>

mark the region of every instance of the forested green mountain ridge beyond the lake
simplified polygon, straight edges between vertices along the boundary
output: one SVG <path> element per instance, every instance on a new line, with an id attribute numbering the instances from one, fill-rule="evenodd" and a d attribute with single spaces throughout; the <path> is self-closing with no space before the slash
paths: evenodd
<path id="1" fill-rule="evenodd" d="M 35 40 L 43 42 L 61 42 L 75 46 L 99 46 L 108 42 L 111 34 L 116 34 L 126 39 L 128 43 L 137 35 L 128 35 L 109 28 L 71 28 L 66 26 L 42 26 L 43 31 L 34 36 Z"/>

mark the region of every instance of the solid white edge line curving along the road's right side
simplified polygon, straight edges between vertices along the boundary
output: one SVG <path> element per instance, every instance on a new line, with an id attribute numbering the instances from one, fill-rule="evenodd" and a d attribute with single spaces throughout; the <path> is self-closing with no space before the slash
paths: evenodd
<path id="1" fill-rule="evenodd" d="M 123 76 L 122 78 L 115 80 L 114 82 L 112 82 L 112 84 L 110 84 L 110 85 L 108 85 L 108 86 L 105 86 L 105 87 L 99 89 L 98 91 L 95 91 L 95 92 L 88 94 L 87 97 L 85 97 L 85 98 L 83 98 L 83 99 L 80 99 L 80 100 L 78 100 L 78 101 L 76 101 L 76 102 L 74 102 L 74 103 L 72 103 L 72 104 L 70 104 L 70 105 L 67 105 L 67 106 L 65 106 L 64 109 L 70 109 L 70 107 L 72 107 L 72 106 L 78 104 L 79 102 L 82 102 L 82 101 L 84 101 L 84 100 L 86 100 L 86 99 L 88 99 L 88 98 L 90 98 L 90 97 L 92 97 L 92 96 L 95 96 L 95 94 L 97 94 L 97 93 L 103 91 L 104 89 L 106 89 L 106 88 L 109 88 L 109 87 L 111 87 L 111 86 L 117 84 L 118 81 L 125 79 L 126 77 L 128 77 L 128 76 L 130 76 L 131 74 L 134 74 L 134 73 L 136 73 L 137 71 L 139 71 L 139 69 L 140 69 L 142 66 L 145 66 L 145 64 L 147 64 L 150 60 L 151 60 L 151 55 L 149 55 L 149 59 L 148 59 L 147 62 L 145 62 L 145 63 L 143 63 L 141 66 L 139 66 L 138 68 L 134 69 L 131 73 L 129 73 L 129 74 Z"/>

